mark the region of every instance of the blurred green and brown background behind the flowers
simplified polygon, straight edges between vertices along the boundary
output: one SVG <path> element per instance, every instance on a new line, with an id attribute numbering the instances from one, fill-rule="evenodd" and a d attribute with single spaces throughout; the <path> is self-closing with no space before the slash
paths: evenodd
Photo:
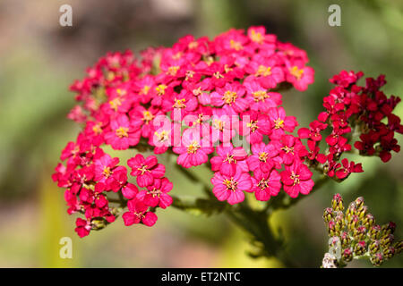
<path id="1" fill-rule="evenodd" d="M 73 6 L 73 27 L 59 25 L 61 4 Z M 341 27 L 328 25 L 330 4 L 341 6 Z M 253 260 L 245 234 L 223 215 L 206 218 L 170 208 L 152 228 L 122 219 L 79 239 L 66 214 L 63 190 L 51 181 L 61 149 L 78 126 L 68 86 L 107 51 L 170 46 L 188 33 L 214 37 L 231 27 L 264 25 L 281 41 L 304 48 L 316 71 L 303 94 L 287 92 L 287 114 L 302 125 L 321 110 L 329 78 L 342 69 L 386 74 L 388 95 L 403 96 L 403 1 L 0 0 L 0 266 L 2 267 L 270 267 Z M 403 105 L 397 114 L 403 117 Z M 399 136 L 400 143 L 402 137 Z M 336 192 L 364 196 L 378 223 L 393 220 L 403 237 L 402 154 L 388 164 L 359 159 L 364 173 L 329 183 L 296 207 L 275 213 L 296 265 L 317 267 L 327 249 L 322 210 Z M 168 172 L 176 194 L 197 194 Z M 59 257 L 59 240 L 73 239 L 73 259 Z M 385 267 L 403 266 L 403 257 Z M 355 262 L 351 266 L 371 266 Z"/>

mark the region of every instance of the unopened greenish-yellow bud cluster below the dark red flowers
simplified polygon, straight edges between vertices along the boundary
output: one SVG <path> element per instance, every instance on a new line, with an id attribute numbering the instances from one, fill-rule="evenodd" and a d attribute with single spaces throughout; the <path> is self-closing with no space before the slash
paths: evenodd
<path id="1" fill-rule="evenodd" d="M 343 211 L 343 198 L 336 194 L 331 200 L 331 207 L 323 213 L 330 236 L 329 253 L 337 260 L 335 265 L 343 266 L 353 258 L 368 257 L 374 266 L 379 266 L 401 253 L 403 240 L 396 242 L 393 235 L 396 224 L 376 224 L 373 214 L 364 206 L 364 198 L 356 198 Z"/>

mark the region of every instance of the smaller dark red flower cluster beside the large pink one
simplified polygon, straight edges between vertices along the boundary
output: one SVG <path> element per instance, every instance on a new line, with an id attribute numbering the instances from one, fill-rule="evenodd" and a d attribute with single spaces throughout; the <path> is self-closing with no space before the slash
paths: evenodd
<path id="1" fill-rule="evenodd" d="M 326 111 L 310 123 L 310 128 L 298 130 L 300 139 L 307 139 L 310 153 L 307 159 L 311 164 L 322 164 L 323 171 L 330 177 L 345 179 L 351 172 L 363 172 L 361 164 L 348 162 L 347 158 L 338 162 L 343 152 L 350 151 L 349 139 L 359 135 L 354 147 L 361 155 L 380 156 L 383 162 L 390 160 L 390 151 L 399 152 L 395 132 L 403 132 L 400 118 L 392 114 L 400 98 L 387 98 L 380 90 L 386 83 L 381 75 L 377 80 L 366 79 L 365 87 L 356 85 L 363 77 L 363 72 L 341 71 L 330 79 L 337 85 L 330 90 L 330 95 L 323 98 Z M 387 119 L 387 123 L 382 122 Z M 330 128 L 326 137 L 327 150 L 320 154 L 319 144 L 322 131 Z"/>

